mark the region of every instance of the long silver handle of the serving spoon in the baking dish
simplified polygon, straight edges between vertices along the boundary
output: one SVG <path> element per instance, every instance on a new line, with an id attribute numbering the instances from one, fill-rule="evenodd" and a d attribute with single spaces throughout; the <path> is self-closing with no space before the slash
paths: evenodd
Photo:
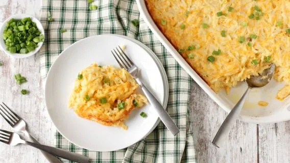
<path id="1" fill-rule="evenodd" d="M 223 122 L 219 131 L 215 134 L 215 137 L 212 141 L 212 144 L 215 145 L 216 147 L 220 148 L 223 145 L 224 140 L 227 138 L 230 130 L 234 126 L 234 124 L 239 116 L 239 113 L 240 113 L 241 109 L 243 108 L 245 100 L 246 100 L 251 89 L 252 89 L 251 87 L 248 87 L 248 89 L 246 90 L 244 95 L 236 103 L 234 108 L 231 110 L 231 112 L 229 113 L 229 115 L 227 116 L 225 121 Z"/>

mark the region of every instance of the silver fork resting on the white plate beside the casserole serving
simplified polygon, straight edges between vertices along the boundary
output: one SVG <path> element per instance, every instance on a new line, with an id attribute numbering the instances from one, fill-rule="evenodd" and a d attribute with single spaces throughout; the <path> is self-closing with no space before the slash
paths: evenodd
<path id="1" fill-rule="evenodd" d="M 113 52 L 114 51 L 114 52 Z M 130 60 L 130 58 L 126 55 L 126 53 L 120 48 L 120 46 L 116 47 L 116 50 L 111 50 L 114 58 L 121 68 L 125 68 L 136 80 L 144 94 L 152 104 L 153 108 L 155 108 L 159 118 L 164 123 L 164 125 L 171 131 L 173 135 L 179 133 L 179 129 L 176 124 L 173 122 L 171 117 L 165 111 L 163 106 L 158 102 L 158 100 L 154 97 L 154 95 L 143 85 L 141 80 L 138 77 L 138 68 L 137 66 Z M 125 57 L 124 57 L 125 56 Z"/>

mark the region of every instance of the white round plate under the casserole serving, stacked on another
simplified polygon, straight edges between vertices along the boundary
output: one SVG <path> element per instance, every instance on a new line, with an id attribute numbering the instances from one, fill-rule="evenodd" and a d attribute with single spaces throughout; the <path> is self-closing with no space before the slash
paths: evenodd
<path id="1" fill-rule="evenodd" d="M 140 70 L 139 77 L 165 107 L 168 84 L 164 69 L 138 43 L 117 35 L 98 35 L 82 39 L 65 49 L 52 65 L 45 84 L 45 103 L 58 131 L 70 142 L 89 150 L 114 151 L 126 148 L 148 135 L 158 122 L 150 104 L 134 110 L 125 124 L 128 130 L 105 126 L 79 117 L 67 107 L 68 98 L 78 73 L 92 64 L 119 67 L 111 49 L 126 45 L 126 53 Z M 157 60 L 158 61 L 158 60 Z M 166 90 L 167 89 L 167 90 Z M 140 90 L 137 90 L 140 91 Z M 141 92 L 141 91 L 140 91 Z M 147 118 L 139 114 L 147 113 Z"/>

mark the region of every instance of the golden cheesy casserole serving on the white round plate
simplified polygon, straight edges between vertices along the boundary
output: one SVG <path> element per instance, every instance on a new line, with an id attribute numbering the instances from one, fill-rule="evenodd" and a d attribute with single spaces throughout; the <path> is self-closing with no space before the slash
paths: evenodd
<path id="1" fill-rule="evenodd" d="M 76 79 L 68 102 L 68 107 L 74 108 L 80 117 L 127 129 L 123 121 L 132 110 L 147 103 L 146 97 L 135 93 L 138 84 L 125 69 L 92 64 L 80 74 L 82 78 Z M 102 103 L 104 98 L 106 102 Z M 122 102 L 124 108 L 119 108 Z"/>

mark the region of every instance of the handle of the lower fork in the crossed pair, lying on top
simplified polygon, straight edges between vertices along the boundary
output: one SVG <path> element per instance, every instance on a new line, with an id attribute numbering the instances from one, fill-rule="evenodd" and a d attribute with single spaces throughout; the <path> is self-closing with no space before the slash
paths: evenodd
<path id="1" fill-rule="evenodd" d="M 57 155 L 59 157 L 71 160 L 71 161 L 76 161 L 76 162 L 80 162 L 80 163 L 88 163 L 89 162 L 89 158 L 86 156 L 83 156 L 81 154 L 77 154 L 77 153 L 73 153 L 73 152 L 69 152 L 66 151 L 64 149 L 59 149 L 59 148 L 55 148 L 55 147 L 50 147 L 50 146 L 45 146 L 42 144 L 38 144 L 38 143 L 32 143 L 32 142 L 27 142 L 25 141 L 24 144 L 30 145 L 32 147 L 35 147 L 37 149 L 46 151 L 50 154 L 53 155 Z"/>

